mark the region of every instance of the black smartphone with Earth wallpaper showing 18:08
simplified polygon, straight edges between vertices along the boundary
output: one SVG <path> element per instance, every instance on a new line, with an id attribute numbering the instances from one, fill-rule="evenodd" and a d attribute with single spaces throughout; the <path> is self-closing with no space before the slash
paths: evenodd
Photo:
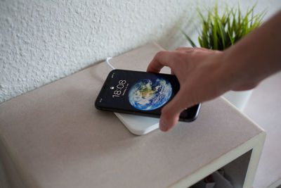
<path id="1" fill-rule="evenodd" d="M 175 75 L 115 69 L 107 76 L 95 106 L 99 110 L 159 117 L 179 89 Z M 195 120 L 199 111 L 200 104 L 187 108 L 179 120 Z"/>

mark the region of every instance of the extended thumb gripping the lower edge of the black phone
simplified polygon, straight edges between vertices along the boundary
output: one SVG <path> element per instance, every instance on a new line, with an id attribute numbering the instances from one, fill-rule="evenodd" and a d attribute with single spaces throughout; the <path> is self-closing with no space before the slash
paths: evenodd
<path id="1" fill-rule="evenodd" d="M 174 99 L 172 99 L 168 104 L 166 104 L 166 106 L 162 108 L 161 117 L 159 120 L 160 130 L 166 132 L 170 130 L 171 127 L 174 127 L 176 123 L 178 123 L 181 112 L 188 107 L 183 101 L 185 101 L 184 92 L 180 89 Z"/>

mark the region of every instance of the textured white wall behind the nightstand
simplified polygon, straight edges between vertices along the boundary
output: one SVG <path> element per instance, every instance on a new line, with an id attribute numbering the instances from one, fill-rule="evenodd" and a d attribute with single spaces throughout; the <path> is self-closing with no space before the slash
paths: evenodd
<path id="1" fill-rule="evenodd" d="M 195 34 L 195 8 L 213 2 L 1 0 L 0 103 L 148 42 L 183 45 L 174 23 Z M 280 8 L 280 0 L 262 2 Z"/>

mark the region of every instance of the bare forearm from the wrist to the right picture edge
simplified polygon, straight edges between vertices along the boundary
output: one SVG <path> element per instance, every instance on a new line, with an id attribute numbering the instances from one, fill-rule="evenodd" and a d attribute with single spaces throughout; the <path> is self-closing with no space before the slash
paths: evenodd
<path id="1" fill-rule="evenodd" d="M 259 83 L 277 73 L 281 70 L 281 11 L 222 54 L 231 87 Z"/>

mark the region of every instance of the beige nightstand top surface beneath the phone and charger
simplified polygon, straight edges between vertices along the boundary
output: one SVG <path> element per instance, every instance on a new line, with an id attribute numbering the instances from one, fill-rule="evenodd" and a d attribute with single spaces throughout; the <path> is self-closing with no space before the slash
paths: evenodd
<path id="1" fill-rule="evenodd" d="M 159 50 L 141 46 L 112 64 L 145 70 Z M 98 63 L 0 104 L 0 141 L 27 187 L 167 187 L 263 133 L 218 98 L 193 123 L 135 136 L 94 107 L 109 72 Z"/>

